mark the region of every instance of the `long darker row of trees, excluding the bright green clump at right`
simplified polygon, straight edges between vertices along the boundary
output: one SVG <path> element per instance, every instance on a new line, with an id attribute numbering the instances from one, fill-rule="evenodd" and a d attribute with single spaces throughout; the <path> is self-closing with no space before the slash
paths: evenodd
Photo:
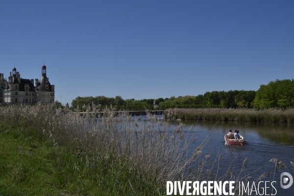
<path id="1" fill-rule="evenodd" d="M 204 95 L 198 96 L 179 96 L 177 98 L 157 98 L 157 99 L 123 99 L 121 96 L 115 98 L 98 97 L 77 97 L 72 101 L 72 109 L 85 108 L 84 105 L 93 104 L 100 105 L 102 111 L 106 106 L 112 105 L 116 110 L 142 111 L 154 110 L 154 106 L 158 105 L 159 110 L 167 108 L 251 108 L 251 102 L 255 97 L 255 91 L 213 91 L 206 92 Z M 83 111 L 83 109 L 82 109 Z M 83 111 L 85 112 L 85 111 Z"/>

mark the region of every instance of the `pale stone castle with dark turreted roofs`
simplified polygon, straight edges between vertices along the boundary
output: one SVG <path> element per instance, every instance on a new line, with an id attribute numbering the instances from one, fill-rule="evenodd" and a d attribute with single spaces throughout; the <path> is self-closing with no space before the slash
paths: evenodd
<path id="1" fill-rule="evenodd" d="M 8 81 L 0 73 L 0 105 L 1 104 L 34 104 L 54 102 L 54 85 L 51 85 L 46 76 L 46 66 L 42 66 L 42 76 L 39 79 L 23 79 L 21 74 L 12 69 Z"/>

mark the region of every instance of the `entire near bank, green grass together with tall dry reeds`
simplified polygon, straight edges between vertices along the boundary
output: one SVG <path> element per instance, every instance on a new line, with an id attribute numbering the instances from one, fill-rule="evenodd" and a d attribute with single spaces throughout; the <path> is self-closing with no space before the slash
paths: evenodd
<path id="1" fill-rule="evenodd" d="M 98 119 L 90 106 L 86 111 L 80 116 L 54 104 L 0 107 L 0 195 L 162 196 L 167 181 L 238 184 L 248 177 L 247 158 L 240 172 L 233 163 L 221 170 L 222 155 L 204 150 L 212 131 L 195 146 L 196 129 L 180 120 L 171 128 L 148 112 L 149 120 L 140 121 L 108 108 Z"/>

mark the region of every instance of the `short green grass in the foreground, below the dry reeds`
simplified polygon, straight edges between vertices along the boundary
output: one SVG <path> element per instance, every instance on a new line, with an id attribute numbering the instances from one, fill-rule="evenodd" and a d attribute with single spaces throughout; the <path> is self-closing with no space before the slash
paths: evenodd
<path id="1" fill-rule="evenodd" d="M 165 195 L 164 185 L 127 159 L 58 144 L 24 127 L 0 124 L 0 196 Z"/>

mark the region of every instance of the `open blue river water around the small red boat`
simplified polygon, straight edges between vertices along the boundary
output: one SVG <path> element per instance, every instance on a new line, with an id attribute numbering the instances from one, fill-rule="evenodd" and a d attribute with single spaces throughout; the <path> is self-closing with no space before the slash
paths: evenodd
<path id="1" fill-rule="evenodd" d="M 136 117 L 133 117 L 135 119 Z M 146 117 L 141 117 L 147 121 Z M 162 118 L 162 116 L 158 116 Z M 294 124 L 290 123 L 247 123 L 247 122 L 195 122 L 185 121 L 185 132 L 193 125 L 193 131 L 196 131 L 196 144 L 191 148 L 196 148 L 205 139 L 207 135 L 212 136 L 206 147 L 202 150 L 203 154 L 212 152 L 211 157 L 215 158 L 217 153 L 222 154 L 222 168 L 225 170 L 231 163 L 233 171 L 239 173 L 243 161 L 247 157 L 246 174 L 249 174 L 254 180 L 261 174 L 269 172 L 270 176 L 262 179 L 263 181 L 276 181 L 274 187 L 277 190 L 276 196 L 293 196 L 294 184 L 288 189 L 282 189 L 280 186 L 280 174 L 288 172 L 294 177 Z M 176 123 L 172 123 L 171 131 Z M 224 135 L 229 129 L 233 132 L 235 129 L 240 131 L 240 135 L 245 138 L 246 146 L 228 146 L 224 144 Z M 190 133 L 191 134 L 191 133 Z M 193 151 L 193 150 L 191 150 Z M 270 159 L 277 158 L 288 168 L 280 169 L 273 176 L 275 164 Z M 257 171 L 256 171 L 257 170 Z M 254 172 L 255 171 L 255 172 Z M 289 182 L 289 181 L 288 181 Z M 287 184 L 287 183 L 286 183 Z M 250 185 L 251 186 L 251 185 Z M 254 193 L 254 192 L 253 192 Z M 252 193 L 252 195 L 254 195 Z M 270 190 L 271 193 L 271 190 Z M 267 194 L 270 194 L 269 192 Z M 273 192 L 273 194 L 275 191 Z"/>

